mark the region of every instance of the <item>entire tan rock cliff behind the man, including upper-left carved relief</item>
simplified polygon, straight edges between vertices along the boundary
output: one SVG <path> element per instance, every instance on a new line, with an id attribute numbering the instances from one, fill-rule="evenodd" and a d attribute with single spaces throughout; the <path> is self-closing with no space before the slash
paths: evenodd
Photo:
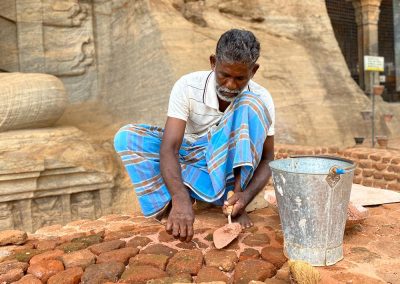
<path id="1" fill-rule="evenodd" d="M 113 131 L 127 121 L 163 125 L 175 80 L 209 69 L 220 34 L 236 27 L 262 44 L 255 80 L 274 97 L 277 142 L 350 145 L 368 133 L 360 111 L 370 103 L 350 77 L 325 1 L 42 2 L 2 2 L 0 69 L 58 76 L 72 103 L 61 124 L 88 126 L 87 115 L 109 126 L 105 109 Z M 105 107 L 81 108 L 76 119 L 71 109 L 87 102 Z M 381 135 L 400 134 L 397 117 L 378 124 Z"/>

